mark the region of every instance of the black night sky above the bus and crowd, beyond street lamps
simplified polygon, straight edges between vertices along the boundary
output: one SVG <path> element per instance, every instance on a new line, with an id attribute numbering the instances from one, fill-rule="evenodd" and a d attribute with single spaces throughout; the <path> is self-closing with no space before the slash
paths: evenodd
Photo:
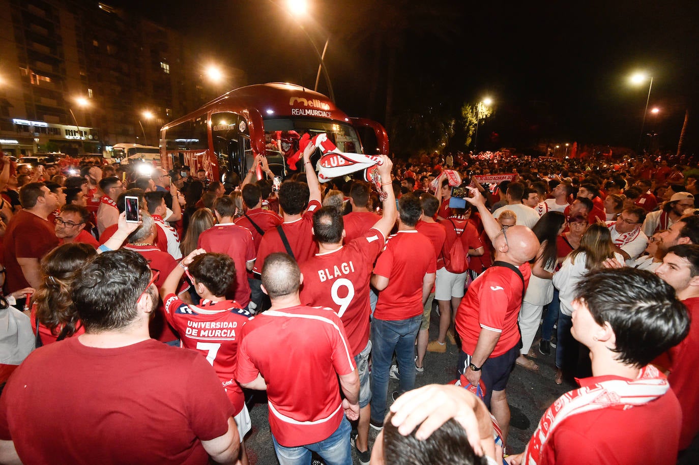
<path id="1" fill-rule="evenodd" d="M 250 84 L 315 84 L 318 60 L 284 0 L 112 3 L 184 32 L 202 64 L 243 69 Z M 632 87 L 628 76 L 645 70 L 654 77 L 649 110 L 661 109 L 646 129 L 658 131 L 661 148 L 676 150 L 685 110 L 699 108 L 696 1 L 308 3 L 299 21 L 318 48 L 330 37 L 336 101 L 353 116 L 385 123 L 389 87 L 394 114 L 455 114 L 488 95 L 495 113 L 482 131 L 498 133 L 498 145 L 635 148 L 648 86 Z M 319 91 L 326 90 L 321 78 Z M 699 149 L 696 127 L 699 113 L 690 113 L 688 152 Z"/>

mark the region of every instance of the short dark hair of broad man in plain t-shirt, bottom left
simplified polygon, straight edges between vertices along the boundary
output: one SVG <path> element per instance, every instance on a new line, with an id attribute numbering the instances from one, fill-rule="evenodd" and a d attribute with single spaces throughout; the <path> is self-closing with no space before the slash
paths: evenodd
<path id="1" fill-rule="evenodd" d="M 73 280 L 73 303 L 80 322 L 88 332 L 129 326 L 138 317 L 136 303 L 150 292 L 153 306 L 157 294 L 146 289 L 151 271 L 143 255 L 132 250 L 115 250 L 97 255 L 78 271 Z"/>

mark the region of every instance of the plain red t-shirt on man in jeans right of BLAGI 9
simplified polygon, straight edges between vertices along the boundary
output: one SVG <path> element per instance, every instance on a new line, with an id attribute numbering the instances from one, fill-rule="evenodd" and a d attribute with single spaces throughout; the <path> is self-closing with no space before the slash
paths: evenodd
<path id="1" fill-rule="evenodd" d="M 389 236 L 374 273 L 389 278 L 379 293 L 374 317 L 379 320 L 408 320 L 422 314 L 422 281 L 437 271 L 434 246 L 415 229 Z"/>

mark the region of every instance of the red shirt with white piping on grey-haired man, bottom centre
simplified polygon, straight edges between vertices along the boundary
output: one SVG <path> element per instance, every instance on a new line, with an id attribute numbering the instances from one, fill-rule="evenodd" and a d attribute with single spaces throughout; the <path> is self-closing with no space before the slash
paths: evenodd
<path id="1" fill-rule="evenodd" d="M 354 369 L 345 328 L 329 309 L 267 310 L 240 331 L 236 380 L 244 384 L 262 375 L 269 426 L 285 447 L 333 434 L 345 415 L 337 375 Z"/>

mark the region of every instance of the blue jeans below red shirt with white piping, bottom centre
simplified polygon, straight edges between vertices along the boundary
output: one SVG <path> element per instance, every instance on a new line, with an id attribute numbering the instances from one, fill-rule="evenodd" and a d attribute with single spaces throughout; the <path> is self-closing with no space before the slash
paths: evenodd
<path id="1" fill-rule="evenodd" d="M 347 417 L 343 417 L 340 426 L 329 438 L 317 443 L 298 445 L 287 448 L 277 442 L 274 435 L 274 451 L 280 465 L 310 465 L 311 452 L 316 452 L 327 465 L 352 465 L 352 446 L 349 444 L 349 426 Z"/>

